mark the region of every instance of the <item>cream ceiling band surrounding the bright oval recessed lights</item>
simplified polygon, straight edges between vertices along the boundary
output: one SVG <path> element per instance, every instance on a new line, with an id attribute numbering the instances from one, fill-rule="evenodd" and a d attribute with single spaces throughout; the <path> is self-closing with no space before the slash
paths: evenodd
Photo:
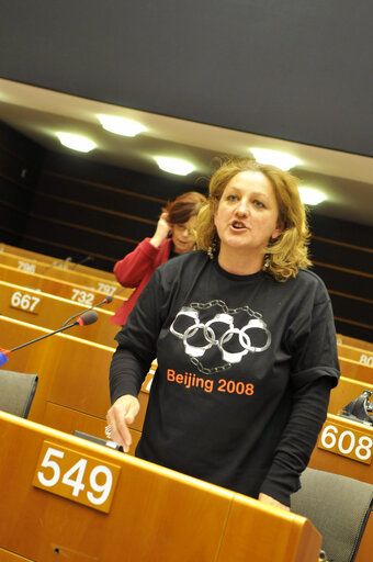
<path id="1" fill-rule="evenodd" d="M 139 121 L 147 131 L 123 137 L 104 131 L 98 114 Z M 111 105 L 57 91 L 0 79 L 0 121 L 48 150 L 71 151 L 56 133 L 88 136 L 98 147 L 79 157 L 144 173 L 168 177 L 154 156 L 190 160 L 196 168 L 187 177 L 171 176 L 189 188 L 211 176 L 219 156 L 250 156 L 250 147 L 271 148 L 296 156 L 302 165 L 292 169 L 301 184 L 327 194 L 315 213 L 373 226 L 373 158 L 268 136 L 205 125 L 155 113 Z M 205 182 L 203 183 L 205 186 Z"/>

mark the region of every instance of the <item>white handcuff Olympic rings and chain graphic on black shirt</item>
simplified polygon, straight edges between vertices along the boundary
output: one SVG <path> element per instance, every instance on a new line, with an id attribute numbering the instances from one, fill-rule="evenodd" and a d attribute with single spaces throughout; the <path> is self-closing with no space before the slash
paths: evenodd
<path id="1" fill-rule="evenodd" d="M 216 313 L 207 322 L 202 322 L 199 311 L 208 311 L 213 306 L 218 306 L 222 312 Z M 241 327 L 235 327 L 235 317 L 239 313 L 245 313 L 247 317 L 244 316 Z M 181 326 L 178 328 L 179 324 Z M 222 330 L 222 326 L 226 327 L 225 331 L 217 334 L 218 327 Z M 191 362 L 204 374 L 225 371 L 231 364 L 239 363 L 247 353 L 260 353 L 271 345 L 271 333 L 260 313 L 255 312 L 248 305 L 229 308 L 221 300 L 208 303 L 192 302 L 190 306 L 183 306 L 176 315 L 170 331 L 182 340 Z M 206 368 L 200 358 L 214 347 L 219 350 L 224 363 Z"/>

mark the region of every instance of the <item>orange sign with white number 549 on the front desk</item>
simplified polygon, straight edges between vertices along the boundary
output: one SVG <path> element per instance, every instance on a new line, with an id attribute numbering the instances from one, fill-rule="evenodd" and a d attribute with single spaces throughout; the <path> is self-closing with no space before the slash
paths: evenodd
<path id="1" fill-rule="evenodd" d="M 44 441 L 33 485 L 109 513 L 120 472 L 121 467 Z"/>

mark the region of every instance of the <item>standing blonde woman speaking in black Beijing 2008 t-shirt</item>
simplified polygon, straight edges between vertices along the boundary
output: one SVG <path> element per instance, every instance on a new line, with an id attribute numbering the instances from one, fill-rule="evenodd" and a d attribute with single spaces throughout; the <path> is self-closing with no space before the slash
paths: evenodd
<path id="1" fill-rule="evenodd" d="M 239 159 L 213 175 L 201 250 L 156 270 L 116 336 L 112 439 L 128 450 L 157 356 L 136 456 L 289 509 L 339 376 L 308 236 L 291 173 Z"/>

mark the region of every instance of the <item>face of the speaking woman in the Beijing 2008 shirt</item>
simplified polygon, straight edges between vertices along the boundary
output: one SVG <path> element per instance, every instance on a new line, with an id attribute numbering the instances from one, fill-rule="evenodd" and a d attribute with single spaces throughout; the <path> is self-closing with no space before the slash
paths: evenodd
<path id="1" fill-rule="evenodd" d="M 241 171 L 224 189 L 215 211 L 215 226 L 221 252 L 229 251 L 260 257 L 279 225 L 279 205 L 270 180 L 260 171 Z"/>

